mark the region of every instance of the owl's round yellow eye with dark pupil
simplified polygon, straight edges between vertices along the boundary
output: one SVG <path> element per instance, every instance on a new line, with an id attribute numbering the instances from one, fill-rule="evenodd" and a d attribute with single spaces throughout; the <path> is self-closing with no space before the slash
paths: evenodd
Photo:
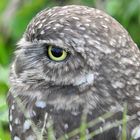
<path id="1" fill-rule="evenodd" d="M 64 49 L 59 47 L 49 46 L 47 51 L 48 51 L 48 57 L 51 60 L 57 62 L 65 60 L 68 55 L 68 53 Z"/>

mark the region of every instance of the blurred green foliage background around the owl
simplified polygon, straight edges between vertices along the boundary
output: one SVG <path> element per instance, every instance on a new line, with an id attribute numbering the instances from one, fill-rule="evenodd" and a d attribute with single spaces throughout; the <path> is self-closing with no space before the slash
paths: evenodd
<path id="1" fill-rule="evenodd" d="M 140 46 L 140 0 L 1 0 L 0 1 L 0 140 L 9 140 L 6 96 L 8 73 L 17 41 L 37 12 L 56 5 L 96 7 L 116 18 Z"/>

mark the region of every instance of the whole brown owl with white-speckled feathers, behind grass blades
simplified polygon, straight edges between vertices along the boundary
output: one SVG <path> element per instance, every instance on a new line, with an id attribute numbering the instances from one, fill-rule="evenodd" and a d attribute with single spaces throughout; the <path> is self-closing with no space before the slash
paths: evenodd
<path id="1" fill-rule="evenodd" d="M 17 44 L 7 101 L 12 140 L 139 140 L 140 50 L 103 11 L 45 9 Z"/>

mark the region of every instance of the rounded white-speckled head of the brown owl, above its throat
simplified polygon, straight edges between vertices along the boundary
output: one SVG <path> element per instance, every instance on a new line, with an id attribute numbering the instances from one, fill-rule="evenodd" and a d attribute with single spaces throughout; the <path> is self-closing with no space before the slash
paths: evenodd
<path id="1" fill-rule="evenodd" d="M 11 83 L 34 89 L 73 86 L 81 92 L 96 83 L 121 88 L 127 68 L 137 63 L 136 52 L 126 30 L 100 10 L 45 9 L 18 43 Z"/>

